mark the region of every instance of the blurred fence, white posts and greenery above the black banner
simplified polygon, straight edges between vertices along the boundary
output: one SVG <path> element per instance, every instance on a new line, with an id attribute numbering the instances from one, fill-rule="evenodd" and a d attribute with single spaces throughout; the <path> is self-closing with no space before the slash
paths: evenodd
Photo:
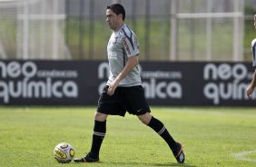
<path id="1" fill-rule="evenodd" d="M 105 60 L 113 3 L 141 60 L 251 61 L 255 0 L 0 0 L 0 58 Z"/>

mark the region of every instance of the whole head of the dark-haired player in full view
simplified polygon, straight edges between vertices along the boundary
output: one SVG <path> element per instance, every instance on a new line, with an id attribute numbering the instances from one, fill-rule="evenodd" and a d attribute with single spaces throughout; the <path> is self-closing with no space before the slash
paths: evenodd
<path id="1" fill-rule="evenodd" d="M 118 30 L 123 25 L 125 10 L 123 5 L 108 5 L 106 9 L 106 22 L 113 31 Z"/>

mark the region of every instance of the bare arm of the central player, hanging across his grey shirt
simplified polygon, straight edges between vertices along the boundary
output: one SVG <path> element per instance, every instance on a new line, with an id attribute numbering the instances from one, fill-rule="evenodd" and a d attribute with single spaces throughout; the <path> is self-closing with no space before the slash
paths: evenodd
<path id="1" fill-rule="evenodd" d="M 107 93 L 109 95 L 113 95 L 118 84 L 122 81 L 122 79 L 127 74 L 129 74 L 133 70 L 133 68 L 138 64 L 138 62 L 139 62 L 138 55 L 133 55 L 128 58 L 128 61 L 126 62 L 125 66 L 123 68 L 123 71 L 120 74 L 118 74 L 117 77 L 115 78 L 115 80 L 113 81 L 113 83 L 111 83 L 109 85 L 109 88 L 107 91 Z"/>

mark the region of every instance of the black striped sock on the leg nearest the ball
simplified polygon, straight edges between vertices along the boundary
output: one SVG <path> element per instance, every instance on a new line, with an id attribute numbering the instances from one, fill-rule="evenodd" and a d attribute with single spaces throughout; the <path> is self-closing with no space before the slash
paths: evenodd
<path id="1" fill-rule="evenodd" d="M 101 145 L 106 133 L 106 121 L 94 121 L 93 143 L 91 148 L 92 158 L 98 158 Z"/>

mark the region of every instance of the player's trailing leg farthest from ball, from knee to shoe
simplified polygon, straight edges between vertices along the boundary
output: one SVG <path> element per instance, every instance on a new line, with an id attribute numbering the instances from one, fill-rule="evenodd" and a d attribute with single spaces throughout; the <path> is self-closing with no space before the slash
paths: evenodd
<path id="1" fill-rule="evenodd" d="M 150 113 L 138 115 L 138 118 L 144 124 L 151 127 L 156 133 L 158 133 L 162 137 L 162 139 L 164 139 L 165 142 L 167 142 L 177 162 L 183 163 L 185 161 L 185 154 L 182 152 L 182 144 L 174 141 L 171 134 L 167 131 L 161 121 L 154 118 Z"/>

